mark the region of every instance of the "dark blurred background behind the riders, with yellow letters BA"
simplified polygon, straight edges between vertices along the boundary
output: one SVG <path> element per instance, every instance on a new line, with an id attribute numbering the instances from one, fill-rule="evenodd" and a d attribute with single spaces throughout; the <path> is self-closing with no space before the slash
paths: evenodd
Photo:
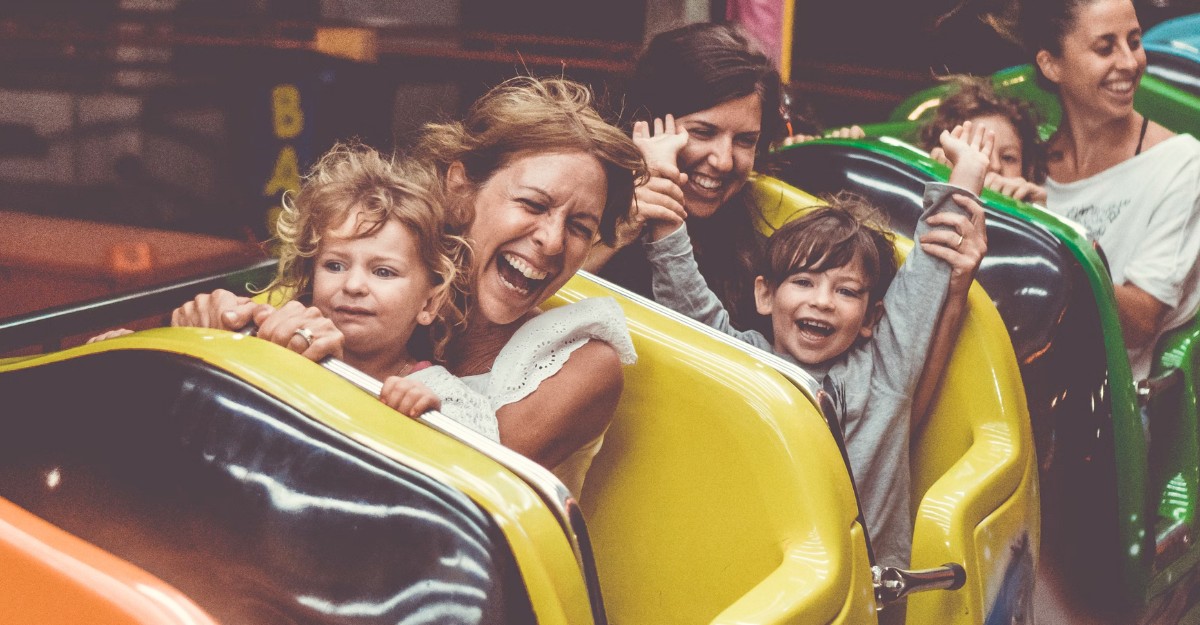
<path id="1" fill-rule="evenodd" d="M 1198 5 L 1139 10 L 1148 26 Z M 983 8 L 798 0 L 782 37 L 794 114 L 878 120 L 936 74 L 1022 62 Z M 280 194 L 334 140 L 402 148 L 504 78 L 564 74 L 619 108 L 646 40 L 727 12 L 725 0 L 2 0 L 0 319 L 245 264 L 263 254 Z"/>

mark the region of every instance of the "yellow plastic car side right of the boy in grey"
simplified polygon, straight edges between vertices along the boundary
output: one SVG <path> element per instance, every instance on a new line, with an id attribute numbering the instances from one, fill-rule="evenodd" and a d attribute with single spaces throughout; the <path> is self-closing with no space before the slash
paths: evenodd
<path id="1" fill-rule="evenodd" d="M 912 564 L 960 563 L 967 569 L 967 585 L 912 597 L 912 624 L 983 623 L 1007 555 L 1024 545 L 1036 560 L 1040 535 L 1033 435 L 1016 357 L 1000 314 L 978 284 L 970 304 L 912 455 L 919 498 Z"/>

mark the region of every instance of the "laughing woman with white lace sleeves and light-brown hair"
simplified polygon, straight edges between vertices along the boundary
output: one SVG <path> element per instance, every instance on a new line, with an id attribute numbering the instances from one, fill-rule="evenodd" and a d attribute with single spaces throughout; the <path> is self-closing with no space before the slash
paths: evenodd
<path id="1" fill-rule="evenodd" d="M 637 146 L 590 102 L 590 91 L 570 80 L 512 79 L 462 122 L 427 126 L 415 155 L 437 168 L 449 227 L 466 235 L 474 263 L 464 268 L 467 327 L 446 347 L 445 369 L 413 375 L 448 369 L 454 375 L 421 381 L 443 399 L 482 396 L 500 443 L 553 470 L 576 495 L 620 398 L 620 367 L 636 356 L 612 299 L 539 306 L 595 241 L 614 241 L 644 178 Z M 176 310 L 173 324 L 233 330 L 260 306 L 228 292 L 200 295 Z"/>

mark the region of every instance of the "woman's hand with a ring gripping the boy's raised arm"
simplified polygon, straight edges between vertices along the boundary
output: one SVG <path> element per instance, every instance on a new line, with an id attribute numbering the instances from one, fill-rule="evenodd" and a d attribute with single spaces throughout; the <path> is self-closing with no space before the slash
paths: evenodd
<path id="1" fill-rule="evenodd" d="M 978 202 L 961 194 L 953 199 L 967 215 L 938 212 L 925 220 L 935 228 L 922 235 L 920 248 L 950 265 L 950 296 L 966 296 L 988 253 L 988 227 Z"/>

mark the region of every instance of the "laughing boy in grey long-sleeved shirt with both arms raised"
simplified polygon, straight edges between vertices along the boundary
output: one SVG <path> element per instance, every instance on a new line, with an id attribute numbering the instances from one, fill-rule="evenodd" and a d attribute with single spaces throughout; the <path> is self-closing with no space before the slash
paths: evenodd
<path id="1" fill-rule="evenodd" d="M 671 134 L 635 128 L 655 175 L 673 174 L 659 166 L 674 162 Z M 949 184 L 926 184 L 919 245 L 899 270 L 890 236 L 860 221 L 863 204 L 846 197 L 770 236 L 755 282 L 770 338 L 730 325 L 696 269 L 682 220 L 656 214 L 646 244 L 659 302 L 800 365 L 833 392 L 875 553 L 888 566 L 906 566 L 911 553 L 910 432 L 924 411 L 913 398 L 919 386 L 937 384 L 986 251 L 976 196 L 992 134 L 967 124 L 943 133 L 942 146 L 955 167 Z"/>

